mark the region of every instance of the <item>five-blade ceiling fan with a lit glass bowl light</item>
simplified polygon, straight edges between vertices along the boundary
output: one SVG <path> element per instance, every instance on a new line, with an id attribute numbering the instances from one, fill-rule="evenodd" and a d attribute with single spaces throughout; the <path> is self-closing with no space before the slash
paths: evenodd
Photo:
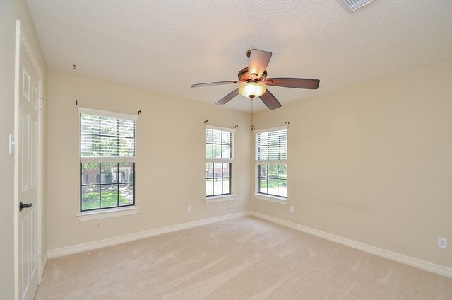
<path id="1" fill-rule="evenodd" d="M 201 86 L 218 86 L 221 84 L 240 83 L 239 88 L 236 88 L 231 93 L 228 93 L 215 104 L 225 104 L 240 93 L 249 98 L 261 98 L 262 102 L 267 105 L 270 110 L 280 108 L 281 103 L 275 98 L 275 96 L 273 96 L 272 93 L 270 93 L 270 91 L 268 91 L 267 86 L 309 88 L 313 90 L 319 88 L 319 79 L 267 78 L 266 68 L 270 62 L 271 54 L 271 52 L 258 49 L 248 50 L 246 52 L 246 56 L 249 57 L 249 65 L 239 71 L 239 80 L 196 83 L 191 87 L 198 88 Z"/>

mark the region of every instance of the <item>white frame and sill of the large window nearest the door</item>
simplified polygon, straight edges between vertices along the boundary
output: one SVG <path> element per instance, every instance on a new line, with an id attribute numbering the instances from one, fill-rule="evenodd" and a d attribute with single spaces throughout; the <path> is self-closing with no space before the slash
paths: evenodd
<path id="1" fill-rule="evenodd" d="M 112 119 L 117 120 L 128 120 L 133 121 L 134 123 L 134 134 L 133 134 L 133 144 L 134 144 L 134 155 L 133 156 L 82 156 L 82 131 L 81 131 L 81 115 L 94 115 L 96 117 L 108 117 Z M 78 132 L 78 139 L 79 139 L 79 158 L 80 158 L 80 195 L 79 195 L 79 214 L 77 215 L 78 219 L 81 221 L 88 221 L 90 219 L 103 219 L 107 217 L 117 217 L 121 215 L 127 215 L 127 214 L 136 214 L 138 212 L 138 207 L 136 207 L 136 156 L 137 156 L 137 125 L 138 125 L 138 115 L 129 115 L 124 113 L 115 113 L 111 111 L 106 110 L 94 110 L 90 108 L 78 108 L 78 125 L 79 125 L 79 132 Z M 99 134 L 102 136 L 102 134 Z M 119 134 L 117 135 L 118 141 Z M 119 143 L 119 142 L 118 142 Z M 118 154 L 119 155 L 119 154 Z M 99 182 L 95 182 L 90 185 L 97 185 L 99 187 L 99 197 L 100 202 L 98 208 L 93 209 L 84 209 L 83 210 L 83 198 L 82 198 L 82 190 L 83 186 L 88 186 L 87 184 L 83 183 L 83 172 L 82 172 L 82 166 L 83 163 L 96 163 L 99 165 Z M 117 164 L 117 180 L 113 183 L 102 183 L 102 177 L 100 174 L 100 168 L 102 163 L 114 163 Z M 129 182 L 129 180 L 126 180 L 126 183 L 119 182 L 119 168 L 121 168 L 121 163 L 131 163 L 133 165 L 133 182 Z M 129 175 L 130 178 L 130 175 Z M 131 204 L 126 205 L 120 205 L 119 204 L 119 186 L 121 184 L 133 184 L 133 202 Z M 111 207 L 101 207 L 102 206 L 102 195 L 101 195 L 101 188 L 102 185 L 117 185 L 117 192 L 118 192 L 118 202 L 115 206 Z"/>

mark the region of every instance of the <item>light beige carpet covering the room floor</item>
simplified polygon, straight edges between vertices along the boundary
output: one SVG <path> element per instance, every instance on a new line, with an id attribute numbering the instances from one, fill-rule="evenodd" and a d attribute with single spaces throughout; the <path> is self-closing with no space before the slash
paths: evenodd
<path id="1" fill-rule="evenodd" d="M 244 217 L 47 262 L 35 299 L 452 299 L 452 279 Z"/>

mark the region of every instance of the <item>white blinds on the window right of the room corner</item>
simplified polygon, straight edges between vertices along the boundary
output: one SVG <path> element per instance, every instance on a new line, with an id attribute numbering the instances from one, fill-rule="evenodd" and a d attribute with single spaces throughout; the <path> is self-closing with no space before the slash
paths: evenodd
<path id="1" fill-rule="evenodd" d="M 256 132 L 256 163 L 287 161 L 287 127 Z"/>

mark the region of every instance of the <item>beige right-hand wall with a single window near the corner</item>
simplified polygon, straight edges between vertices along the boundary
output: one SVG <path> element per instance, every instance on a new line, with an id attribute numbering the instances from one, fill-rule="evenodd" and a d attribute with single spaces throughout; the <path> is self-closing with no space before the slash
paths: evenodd
<path id="1" fill-rule="evenodd" d="M 290 121 L 295 213 L 251 209 L 452 267 L 452 247 L 437 247 L 452 241 L 451 81 L 448 60 L 256 114 L 257 129 Z"/>

